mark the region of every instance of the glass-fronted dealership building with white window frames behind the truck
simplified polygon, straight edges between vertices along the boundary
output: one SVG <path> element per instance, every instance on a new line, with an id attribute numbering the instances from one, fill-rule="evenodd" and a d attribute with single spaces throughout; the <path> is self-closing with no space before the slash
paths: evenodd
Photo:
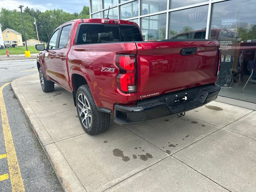
<path id="1" fill-rule="evenodd" d="M 256 0 L 89 1 L 90 18 L 136 22 L 145 41 L 218 40 L 218 100 L 256 110 Z"/>

